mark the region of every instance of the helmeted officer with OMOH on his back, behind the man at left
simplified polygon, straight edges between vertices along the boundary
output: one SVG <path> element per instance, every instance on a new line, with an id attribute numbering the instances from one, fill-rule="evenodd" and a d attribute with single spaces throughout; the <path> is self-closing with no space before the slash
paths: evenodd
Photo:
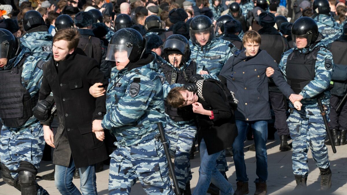
<path id="1" fill-rule="evenodd" d="M 48 27 L 38 11 L 27 11 L 23 16 L 25 33 L 20 42 L 30 49 L 33 55 L 50 60 L 52 58 L 53 36 L 48 32 Z"/>

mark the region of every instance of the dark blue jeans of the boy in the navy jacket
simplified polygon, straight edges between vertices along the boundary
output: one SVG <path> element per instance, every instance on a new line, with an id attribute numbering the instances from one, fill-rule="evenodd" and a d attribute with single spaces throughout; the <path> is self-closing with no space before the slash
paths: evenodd
<path id="1" fill-rule="evenodd" d="M 248 182 L 246 173 L 246 164 L 244 157 L 244 142 L 247 136 L 247 130 L 251 127 L 254 144 L 255 158 L 257 160 L 256 174 L 259 178 L 254 182 L 263 183 L 268 179 L 268 154 L 266 152 L 266 140 L 268 139 L 268 122 L 265 120 L 244 121 L 236 120 L 238 135 L 232 145 L 234 153 L 234 163 L 236 169 L 236 181 Z"/>

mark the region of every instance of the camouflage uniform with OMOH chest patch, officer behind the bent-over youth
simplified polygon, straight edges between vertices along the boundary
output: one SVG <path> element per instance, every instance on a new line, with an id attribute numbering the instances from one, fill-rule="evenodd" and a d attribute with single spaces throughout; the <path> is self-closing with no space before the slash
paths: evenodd
<path id="1" fill-rule="evenodd" d="M 191 48 L 191 59 L 196 62 L 196 73 L 200 73 L 204 67 L 209 71 L 211 78 L 218 79 L 218 75 L 222 70 L 224 63 L 233 54 L 230 51 L 231 44 L 229 41 L 216 38 L 214 41 L 210 41 L 204 46 L 192 43 L 189 41 L 189 46 Z M 202 75 L 205 79 L 208 75 Z M 217 169 L 224 175 L 228 171 L 227 161 L 225 159 L 225 151 L 217 159 Z"/>

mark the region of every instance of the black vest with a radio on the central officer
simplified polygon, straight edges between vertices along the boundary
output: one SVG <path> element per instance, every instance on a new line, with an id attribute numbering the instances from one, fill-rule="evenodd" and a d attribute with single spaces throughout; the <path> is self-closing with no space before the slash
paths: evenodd
<path id="1" fill-rule="evenodd" d="M 196 63 L 194 61 L 183 71 L 176 71 L 173 67 L 169 66 L 166 63 L 161 65 L 161 70 L 163 71 L 167 82 L 171 83 L 179 83 L 186 84 L 188 83 L 189 77 L 196 74 Z M 172 73 L 176 73 L 177 78 L 172 78 Z M 189 105 L 185 108 L 172 108 L 165 101 L 165 113 L 170 116 L 170 118 L 174 121 L 189 121 L 194 119 L 195 115 L 192 110 L 192 105 Z"/>

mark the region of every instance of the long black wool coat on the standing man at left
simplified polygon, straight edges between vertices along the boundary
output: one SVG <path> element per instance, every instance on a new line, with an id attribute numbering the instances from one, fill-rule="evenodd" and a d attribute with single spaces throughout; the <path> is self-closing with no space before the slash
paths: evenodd
<path id="1" fill-rule="evenodd" d="M 92 132 L 92 121 L 102 119 L 106 112 L 106 96 L 94 98 L 89 94 L 93 84 L 103 83 L 104 87 L 108 84 L 98 67 L 95 59 L 76 53 L 59 63 L 51 59 L 43 66 L 39 100 L 52 92 L 59 119 L 54 137 L 54 164 L 68 166 L 71 154 L 76 168 L 108 158 L 104 142 Z"/>

